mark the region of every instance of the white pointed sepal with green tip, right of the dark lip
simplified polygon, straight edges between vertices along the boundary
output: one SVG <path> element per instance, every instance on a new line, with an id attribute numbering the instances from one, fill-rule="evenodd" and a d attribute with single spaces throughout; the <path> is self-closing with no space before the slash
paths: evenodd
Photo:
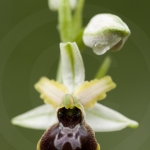
<path id="1" fill-rule="evenodd" d="M 110 132 L 125 127 L 138 127 L 136 121 L 98 103 L 93 108 L 85 109 L 85 113 L 87 124 L 96 132 Z"/>

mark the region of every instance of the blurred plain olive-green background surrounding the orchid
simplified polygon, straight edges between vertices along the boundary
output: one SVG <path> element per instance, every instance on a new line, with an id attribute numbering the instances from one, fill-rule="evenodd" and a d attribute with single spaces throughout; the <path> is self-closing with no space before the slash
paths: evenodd
<path id="1" fill-rule="evenodd" d="M 86 79 L 106 56 L 117 88 L 100 103 L 139 122 L 138 129 L 96 133 L 101 150 L 150 148 L 150 2 L 86 0 L 84 25 L 98 13 L 120 16 L 131 29 L 121 51 L 96 56 L 86 48 Z M 34 150 L 44 131 L 13 126 L 11 118 L 43 104 L 33 85 L 41 76 L 55 78 L 59 59 L 57 13 L 47 0 L 0 1 L 0 149 Z"/>

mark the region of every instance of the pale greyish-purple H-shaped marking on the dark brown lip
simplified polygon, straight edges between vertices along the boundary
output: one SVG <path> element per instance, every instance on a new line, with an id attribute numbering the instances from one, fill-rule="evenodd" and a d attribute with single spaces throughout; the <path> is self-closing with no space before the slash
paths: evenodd
<path id="1" fill-rule="evenodd" d="M 75 137 L 79 132 L 79 128 L 80 125 L 76 125 L 73 129 L 71 129 L 69 127 L 64 127 L 62 123 L 60 123 L 60 132 L 56 135 L 54 140 L 55 147 L 59 150 L 62 150 L 64 144 L 69 142 L 72 149 L 76 149 L 77 147 L 81 148 L 80 135 Z M 60 138 L 58 138 L 59 134 L 62 135 Z M 69 137 L 69 134 L 71 134 L 72 136 Z"/>

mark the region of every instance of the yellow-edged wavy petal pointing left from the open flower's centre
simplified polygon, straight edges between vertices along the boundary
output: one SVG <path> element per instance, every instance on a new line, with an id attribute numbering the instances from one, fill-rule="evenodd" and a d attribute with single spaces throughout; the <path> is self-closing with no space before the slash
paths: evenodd
<path id="1" fill-rule="evenodd" d="M 60 105 L 63 95 L 68 93 L 68 89 L 64 85 L 46 77 L 42 77 L 35 84 L 35 89 L 41 94 L 40 97 L 45 103 L 51 104 L 53 107 Z"/>

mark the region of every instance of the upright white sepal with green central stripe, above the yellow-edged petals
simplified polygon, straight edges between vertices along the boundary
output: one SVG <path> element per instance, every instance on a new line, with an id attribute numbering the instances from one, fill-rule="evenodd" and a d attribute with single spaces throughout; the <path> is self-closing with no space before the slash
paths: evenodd
<path id="1" fill-rule="evenodd" d="M 84 64 L 77 44 L 60 43 L 62 79 L 70 94 L 84 82 Z"/>

